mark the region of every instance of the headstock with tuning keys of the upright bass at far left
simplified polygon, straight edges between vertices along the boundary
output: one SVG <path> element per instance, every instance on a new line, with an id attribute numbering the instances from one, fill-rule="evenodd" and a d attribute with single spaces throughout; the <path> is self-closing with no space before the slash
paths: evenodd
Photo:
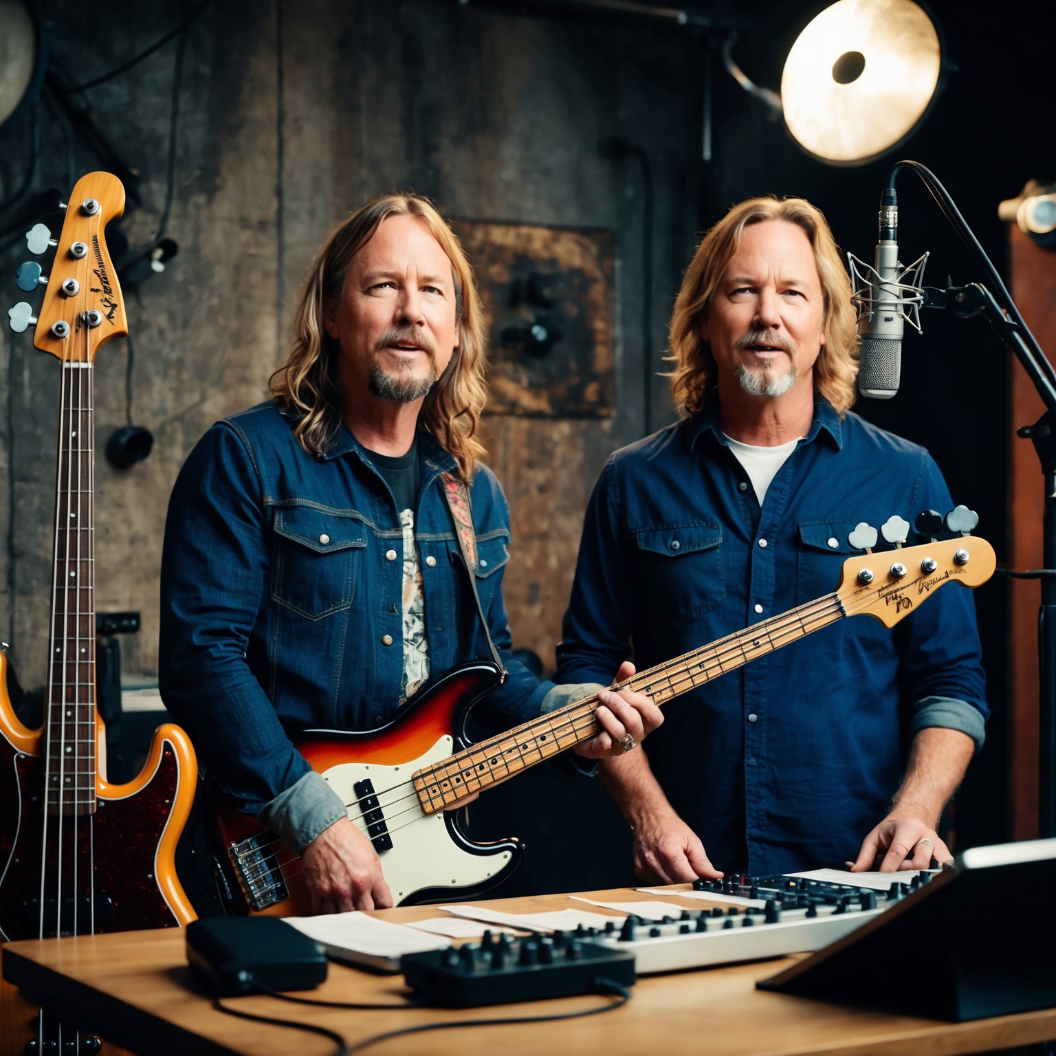
<path id="1" fill-rule="evenodd" d="M 7 315 L 15 331 L 36 326 L 33 343 L 41 352 L 67 362 L 91 362 L 100 345 L 128 334 L 125 301 L 106 240 L 107 224 L 124 212 L 121 182 L 109 172 L 90 172 L 70 195 L 57 240 L 43 224 L 26 232 L 31 252 L 39 256 L 54 246 L 55 257 L 48 278 L 33 261 L 18 269 L 20 289 L 44 287 L 38 315 L 34 317 L 25 302 Z"/>

